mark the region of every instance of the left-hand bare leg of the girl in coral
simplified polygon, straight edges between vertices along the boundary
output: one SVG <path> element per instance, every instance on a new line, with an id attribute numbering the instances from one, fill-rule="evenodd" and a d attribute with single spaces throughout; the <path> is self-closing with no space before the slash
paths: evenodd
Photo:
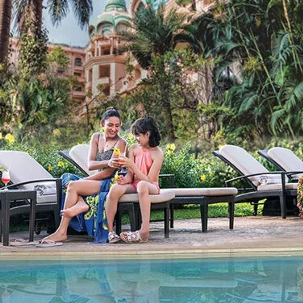
<path id="1" fill-rule="evenodd" d="M 132 185 L 129 184 L 114 184 L 108 192 L 105 213 L 107 220 L 108 231 L 113 231 L 114 219 L 117 212 L 118 200 L 125 193 L 135 193 L 136 190 Z"/>

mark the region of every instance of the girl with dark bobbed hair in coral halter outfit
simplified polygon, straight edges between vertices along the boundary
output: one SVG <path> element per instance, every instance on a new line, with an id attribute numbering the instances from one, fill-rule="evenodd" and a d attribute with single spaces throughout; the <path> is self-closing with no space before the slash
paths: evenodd
<path id="1" fill-rule="evenodd" d="M 149 236 L 150 199 L 148 194 L 159 194 L 158 177 L 163 162 L 163 152 L 158 147 L 160 133 L 153 118 L 141 118 L 132 125 L 132 134 L 138 144 L 129 148 L 129 158 L 119 157 L 123 167 L 128 167 L 125 177 L 120 176 L 117 184 L 108 193 L 105 212 L 108 226 L 108 241 L 114 243 L 122 239 L 125 242 L 147 242 Z M 122 232 L 120 237 L 113 231 L 113 221 L 119 198 L 125 193 L 138 193 L 142 215 L 141 229 Z"/>

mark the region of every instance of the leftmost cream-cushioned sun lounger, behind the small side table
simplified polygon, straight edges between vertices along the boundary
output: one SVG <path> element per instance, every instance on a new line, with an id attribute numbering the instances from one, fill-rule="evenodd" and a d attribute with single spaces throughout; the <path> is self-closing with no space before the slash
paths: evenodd
<path id="1" fill-rule="evenodd" d="M 8 188 L 33 190 L 34 187 L 45 187 L 45 191 L 52 188 L 52 194 L 37 194 L 36 213 L 54 214 L 54 220 L 51 220 L 52 228 L 57 228 L 60 223 L 59 211 L 61 203 L 61 179 L 53 176 L 45 170 L 34 158 L 23 151 L 0 151 L 0 166 L 9 168 L 12 184 Z M 26 201 L 25 201 L 26 202 Z M 29 205 L 14 207 L 11 209 L 11 215 L 29 213 Z M 49 220 L 50 221 L 50 220 Z"/>

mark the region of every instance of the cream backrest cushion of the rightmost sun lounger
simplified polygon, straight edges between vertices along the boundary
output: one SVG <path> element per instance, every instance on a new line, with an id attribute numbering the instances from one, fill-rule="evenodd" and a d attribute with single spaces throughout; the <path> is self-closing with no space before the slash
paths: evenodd
<path id="1" fill-rule="evenodd" d="M 268 150 L 268 155 L 276 161 L 285 171 L 303 171 L 303 161 L 298 158 L 290 149 L 273 147 Z M 300 178 L 302 174 L 293 175 L 293 178 Z"/>

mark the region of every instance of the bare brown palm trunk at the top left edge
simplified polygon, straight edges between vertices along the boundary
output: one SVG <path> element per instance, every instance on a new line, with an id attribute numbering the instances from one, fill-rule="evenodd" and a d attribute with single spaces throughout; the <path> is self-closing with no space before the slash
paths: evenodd
<path id="1" fill-rule="evenodd" d="M 0 64 L 8 54 L 12 0 L 0 0 Z"/>

